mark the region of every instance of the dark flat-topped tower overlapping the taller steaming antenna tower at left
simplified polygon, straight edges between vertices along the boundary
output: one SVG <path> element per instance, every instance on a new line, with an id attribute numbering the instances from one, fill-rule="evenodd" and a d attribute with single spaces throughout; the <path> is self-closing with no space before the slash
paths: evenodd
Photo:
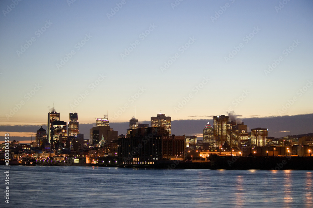
<path id="1" fill-rule="evenodd" d="M 65 121 L 54 121 L 51 123 L 51 138 L 50 144 L 52 150 L 59 148 L 60 139 L 64 143 L 64 138 L 67 137 L 66 133 L 66 122 Z"/>

